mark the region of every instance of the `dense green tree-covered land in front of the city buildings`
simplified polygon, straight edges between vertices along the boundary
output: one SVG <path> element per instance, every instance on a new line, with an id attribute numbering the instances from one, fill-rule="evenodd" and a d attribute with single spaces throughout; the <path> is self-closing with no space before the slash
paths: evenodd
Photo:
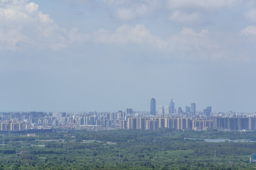
<path id="1" fill-rule="evenodd" d="M 256 166 L 249 163 L 256 142 L 186 139 L 255 140 L 256 132 L 157 129 L 36 135 L 5 135 L 0 170 L 242 170 Z"/>

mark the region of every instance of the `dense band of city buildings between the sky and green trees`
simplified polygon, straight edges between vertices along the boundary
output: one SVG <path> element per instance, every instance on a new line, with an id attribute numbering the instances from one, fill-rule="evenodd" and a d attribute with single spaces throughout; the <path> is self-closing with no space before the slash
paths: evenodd
<path id="1" fill-rule="evenodd" d="M 255 113 L 214 113 L 208 106 L 202 112 L 184 112 L 181 107 L 177 113 L 169 114 L 169 106 L 159 106 L 159 113 L 152 115 L 137 112 L 131 108 L 117 112 L 88 112 L 70 114 L 66 112 L 0 112 L 0 133 L 53 132 L 60 129 L 77 130 L 91 127 L 101 129 L 142 129 L 174 128 L 178 130 L 256 130 Z M 167 113 L 166 113 L 167 112 Z"/>

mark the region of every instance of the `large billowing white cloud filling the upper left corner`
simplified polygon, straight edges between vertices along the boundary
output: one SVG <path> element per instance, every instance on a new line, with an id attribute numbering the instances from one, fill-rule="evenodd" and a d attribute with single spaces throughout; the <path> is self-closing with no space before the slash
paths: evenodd
<path id="1" fill-rule="evenodd" d="M 59 49 L 69 43 L 66 30 L 29 0 L 0 0 L 0 23 L 0 49 Z"/>

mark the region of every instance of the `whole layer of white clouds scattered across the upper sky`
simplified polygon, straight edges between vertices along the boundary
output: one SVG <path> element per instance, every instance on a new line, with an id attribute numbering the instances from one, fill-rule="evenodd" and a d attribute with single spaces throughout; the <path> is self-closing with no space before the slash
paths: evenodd
<path id="1" fill-rule="evenodd" d="M 160 8 L 166 9 L 170 22 L 194 23 L 203 13 L 212 9 L 230 8 L 239 0 L 103 0 L 122 21 L 149 16 Z M 254 20 L 255 9 L 244 12 Z M 0 50 L 23 51 L 31 48 L 59 50 L 74 43 L 97 42 L 103 44 L 135 44 L 164 52 L 193 51 L 199 56 L 229 58 L 229 49 L 221 46 L 220 40 L 209 29 L 183 26 L 168 36 L 153 34 L 144 24 L 121 24 L 115 31 L 99 28 L 84 33 L 79 28 L 61 28 L 48 14 L 38 10 L 30 0 L 0 0 Z M 195 31 L 197 30 L 197 31 Z M 220 33 L 221 34 L 221 33 Z M 256 26 L 247 26 L 241 36 L 256 40 Z M 239 41 L 238 39 L 236 41 Z M 199 52 L 200 51 L 200 52 Z M 217 52 L 218 51 L 218 52 Z M 216 54 L 217 53 L 217 54 Z M 221 55 L 219 55 L 221 53 Z"/>

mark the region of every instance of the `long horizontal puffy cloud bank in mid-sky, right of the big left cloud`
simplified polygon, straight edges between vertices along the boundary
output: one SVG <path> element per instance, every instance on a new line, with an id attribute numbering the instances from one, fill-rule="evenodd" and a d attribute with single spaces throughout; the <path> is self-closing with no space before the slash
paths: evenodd
<path id="1" fill-rule="evenodd" d="M 194 51 L 199 53 L 199 57 L 226 58 L 225 52 L 223 52 L 214 38 L 210 36 L 207 29 L 195 32 L 192 28 L 183 27 L 178 34 L 174 34 L 166 39 L 152 34 L 144 25 L 122 25 L 115 32 L 105 29 L 99 29 L 90 34 L 81 34 L 78 29 L 73 29 L 71 32 L 72 34 L 69 34 L 69 37 L 73 41 L 101 42 L 109 45 L 133 43 L 148 46 L 149 48 L 153 47 L 165 52 Z"/>

